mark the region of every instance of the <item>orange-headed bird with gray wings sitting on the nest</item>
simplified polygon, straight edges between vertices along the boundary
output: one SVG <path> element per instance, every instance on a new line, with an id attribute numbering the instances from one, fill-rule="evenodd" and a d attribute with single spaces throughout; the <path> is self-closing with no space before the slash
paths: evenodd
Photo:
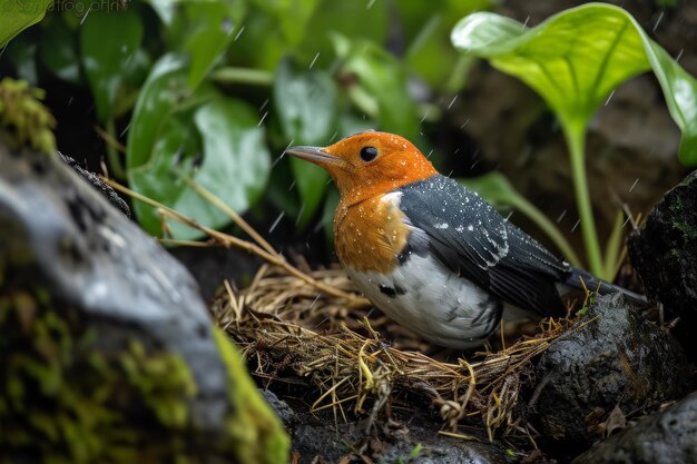
<path id="1" fill-rule="evenodd" d="M 503 303 L 563 316 L 561 293 L 583 285 L 644 300 L 557 257 L 401 136 L 370 130 L 286 154 L 336 185 L 335 250 L 356 288 L 434 345 L 481 346 Z"/>

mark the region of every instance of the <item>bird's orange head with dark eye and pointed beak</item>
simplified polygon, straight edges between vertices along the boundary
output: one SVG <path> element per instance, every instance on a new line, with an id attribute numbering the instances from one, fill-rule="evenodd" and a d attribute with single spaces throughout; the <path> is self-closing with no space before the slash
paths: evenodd
<path id="1" fill-rule="evenodd" d="M 386 132 L 361 132 L 328 147 L 291 147 L 286 152 L 326 169 L 348 205 L 436 172 L 409 140 Z"/>

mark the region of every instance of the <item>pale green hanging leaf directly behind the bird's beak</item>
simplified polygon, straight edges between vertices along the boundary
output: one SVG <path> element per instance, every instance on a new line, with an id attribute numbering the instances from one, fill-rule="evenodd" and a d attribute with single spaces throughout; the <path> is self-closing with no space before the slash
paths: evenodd
<path id="1" fill-rule="evenodd" d="M 298 71 L 282 61 L 274 79 L 274 108 L 292 145 L 328 145 L 337 125 L 337 91 L 324 71 Z M 328 175 L 318 166 L 293 158 L 291 168 L 304 209 L 301 226 L 314 216 L 323 200 Z"/>

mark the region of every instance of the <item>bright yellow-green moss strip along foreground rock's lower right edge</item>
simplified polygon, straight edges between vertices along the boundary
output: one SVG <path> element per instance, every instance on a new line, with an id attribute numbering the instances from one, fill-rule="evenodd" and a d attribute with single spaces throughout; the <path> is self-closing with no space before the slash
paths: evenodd
<path id="1" fill-rule="evenodd" d="M 289 440 L 281 421 L 262 398 L 249 378 L 239 353 L 226 335 L 215 329 L 215 339 L 227 367 L 233 404 L 228 416 L 228 432 L 234 440 L 235 462 L 254 464 L 287 463 Z"/>

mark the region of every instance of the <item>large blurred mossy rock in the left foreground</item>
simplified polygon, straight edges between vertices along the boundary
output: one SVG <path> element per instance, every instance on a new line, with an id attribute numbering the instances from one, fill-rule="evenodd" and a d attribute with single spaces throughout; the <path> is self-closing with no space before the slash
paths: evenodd
<path id="1" fill-rule="evenodd" d="M 0 166 L 2 457 L 287 460 L 184 267 L 57 157 Z"/>

